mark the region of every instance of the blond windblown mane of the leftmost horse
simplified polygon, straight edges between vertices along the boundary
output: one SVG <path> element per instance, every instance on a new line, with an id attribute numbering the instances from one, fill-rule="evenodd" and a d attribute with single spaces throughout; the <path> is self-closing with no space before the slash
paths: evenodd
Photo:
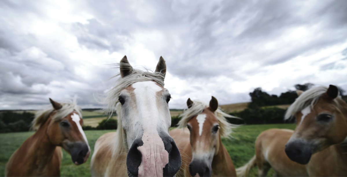
<path id="1" fill-rule="evenodd" d="M 51 108 L 37 111 L 35 113 L 35 118 L 32 122 L 31 129 L 38 130 L 41 127 L 41 125 L 43 125 L 46 122 L 46 120 L 52 113 L 54 113 L 54 115 L 52 116 L 53 121 L 59 121 L 73 111 L 76 111 L 78 115 L 82 118 L 81 108 L 77 105 L 76 100 L 71 101 L 69 103 L 60 104 L 62 107 L 59 110 L 53 109 L 50 105 Z"/>

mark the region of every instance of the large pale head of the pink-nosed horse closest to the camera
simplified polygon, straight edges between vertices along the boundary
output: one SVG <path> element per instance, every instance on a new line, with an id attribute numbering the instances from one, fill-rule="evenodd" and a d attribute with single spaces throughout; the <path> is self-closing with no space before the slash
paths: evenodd
<path id="1" fill-rule="evenodd" d="M 181 166 L 181 156 L 169 135 L 171 116 L 169 91 L 151 79 L 149 73 L 136 75 L 126 56 L 120 61 L 125 82 L 135 79 L 119 93 L 120 119 L 128 145 L 126 164 L 129 176 L 174 176 Z M 155 73 L 163 83 L 166 64 L 162 57 Z M 155 78 L 153 78 L 155 79 Z M 137 81 L 138 80 L 138 81 Z M 118 104 L 119 106 L 119 104 Z"/>

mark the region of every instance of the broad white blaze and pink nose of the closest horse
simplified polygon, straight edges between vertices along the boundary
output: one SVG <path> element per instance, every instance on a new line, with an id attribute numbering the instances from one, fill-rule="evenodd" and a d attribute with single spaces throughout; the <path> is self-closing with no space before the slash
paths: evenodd
<path id="1" fill-rule="evenodd" d="M 138 114 L 136 122 L 141 122 L 143 129 L 143 145 L 137 147 L 141 152 L 142 161 L 138 167 L 138 176 L 162 176 L 163 168 L 169 163 L 169 153 L 165 150 L 163 140 L 160 138 L 157 127 L 168 130 L 165 120 L 168 115 L 160 115 L 158 111 L 157 93 L 163 88 L 153 81 L 136 82 L 132 85 L 136 97 Z M 160 105 L 160 104 L 159 104 Z M 135 135 L 133 135 L 135 138 Z M 128 141 L 129 142 L 129 141 Z M 131 144 L 129 144 L 131 145 Z M 153 167 L 154 166 L 154 167 Z"/>

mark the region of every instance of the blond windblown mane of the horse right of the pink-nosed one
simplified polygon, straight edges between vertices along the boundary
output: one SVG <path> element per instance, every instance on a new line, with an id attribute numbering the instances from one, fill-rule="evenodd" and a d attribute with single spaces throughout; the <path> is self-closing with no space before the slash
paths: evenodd
<path id="1" fill-rule="evenodd" d="M 178 127 L 179 128 L 184 128 L 188 121 L 191 120 L 194 116 L 202 113 L 202 111 L 206 108 L 209 107 L 207 104 L 203 103 L 200 100 L 193 100 L 193 105 L 191 108 L 188 108 L 184 110 L 184 112 L 180 115 L 182 118 L 178 122 Z M 230 133 L 232 132 L 232 129 L 237 127 L 237 125 L 229 123 L 225 117 L 231 117 L 231 118 L 238 118 L 232 115 L 229 115 L 225 112 L 223 112 L 220 108 L 218 108 L 215 112 L 214 115 L 216 116 L 219 126 L 220 126 L 220 134 L 223 137 L 228 137 Z"/>

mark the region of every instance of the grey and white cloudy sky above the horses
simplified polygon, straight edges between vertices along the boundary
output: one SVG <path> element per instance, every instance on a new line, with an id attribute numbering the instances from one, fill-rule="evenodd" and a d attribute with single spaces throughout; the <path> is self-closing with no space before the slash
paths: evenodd
<path id="1" fill-rule="evenodd" d="M 297 83 L 347 90 L 347 1 L 0 1 L 0 109 L 100 107 L 127 55 L 167 63 L 170 108 Z"/>

